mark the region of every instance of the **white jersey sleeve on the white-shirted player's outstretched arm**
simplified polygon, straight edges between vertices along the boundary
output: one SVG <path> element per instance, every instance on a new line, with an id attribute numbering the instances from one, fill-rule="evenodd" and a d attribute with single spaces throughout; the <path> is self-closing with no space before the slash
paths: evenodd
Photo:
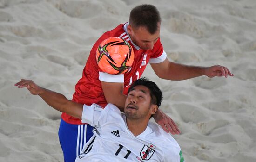
<path id="1" fill-rule="evenodd" d="M 97 104 L 92 104 L 91 106 L 83 106 L 82 112 L 82 123 L 88 123 L 91 126 L 96 126 L 101 117 L 103 108 Z"/>

